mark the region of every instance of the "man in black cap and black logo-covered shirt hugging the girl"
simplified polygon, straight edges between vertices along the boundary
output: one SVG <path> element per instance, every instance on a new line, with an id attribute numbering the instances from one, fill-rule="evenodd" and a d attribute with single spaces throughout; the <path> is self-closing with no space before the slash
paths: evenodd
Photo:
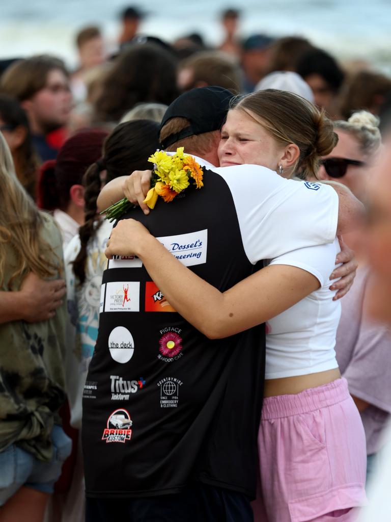
<path id="1" fill-rule="evenodd" d="M 144 223 L 220 290 L 250 275 L 263 255 L 274 257 L 264 236 L 275 236 L 279 252 L 289 250 L 290 235 L 296 245 L 315 244 L 314 227 L 320 243 L 332 241 L 338 213 L 329 187 L 307 191 L 297 183 L 291 194 L 294 182 L 271 181 L 263 167 L 241 165 L 240 174 L 214 169 L 211 143 L 230 99 L 229 91 L 209 87 L 170 105 L 162 141 L 167 147 L 186 141 L 193 154 L 201 148 L 204 187 L 189 189 L 173 205 L 157 205 L 149 216 L 141 209 L 125 216 Z M 205 136 L 212 140 L 202 141 Z M 255 189 L 260 176 L 262 189 Z M 307 219 L 277 226 L 279 212 L 302 208 L 311 234 Z M 140 259 L 109 260 L 83 401 L 87 520 L 252 520 L 264 347 L 264 325 L 206 338 L 165 301 Z"/>

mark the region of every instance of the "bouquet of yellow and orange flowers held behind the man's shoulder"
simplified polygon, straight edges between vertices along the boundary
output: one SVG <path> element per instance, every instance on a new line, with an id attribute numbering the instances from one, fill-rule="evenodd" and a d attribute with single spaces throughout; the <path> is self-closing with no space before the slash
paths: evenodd
<path id="1" fill-rule="evenodd" d="M 203 171 L 192 156 L 184 153 L 183 147 L 177 148 L 174 155 L 157 150 L 148 158 L 148 161 L 154 165 L 151 188 L 143 203 L 146 203 L 151 209 L 155 207 L 158 196 L 169 203 L 190 185 L 191 179 L 194 180 L 196 188 L 203 187 Z M 124 198 L 103 210 L 101 214 L 105 213 L 106 219 L 114 221 L 132 207 L 134 208 L 135 205 Z"/>

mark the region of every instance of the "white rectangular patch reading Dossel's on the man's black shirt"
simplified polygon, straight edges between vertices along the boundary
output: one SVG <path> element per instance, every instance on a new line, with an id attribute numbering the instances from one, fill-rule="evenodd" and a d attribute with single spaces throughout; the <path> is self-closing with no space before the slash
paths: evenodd
<path id="1" fill-rule="evenodd" d="M 156 239 L 185 266 L 206 263 L 207 229 Z"/>

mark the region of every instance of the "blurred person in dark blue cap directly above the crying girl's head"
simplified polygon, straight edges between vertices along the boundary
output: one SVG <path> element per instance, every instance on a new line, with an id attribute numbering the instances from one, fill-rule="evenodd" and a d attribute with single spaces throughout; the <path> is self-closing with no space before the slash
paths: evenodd
<path id="1" fill-rule="evenodd" d="M 245 75 L 244 92 L 252 92 L 266 74 L 270 46 L 274 38 L 266 34 L 252 34 L 242 44 L 242 69 Z"/>

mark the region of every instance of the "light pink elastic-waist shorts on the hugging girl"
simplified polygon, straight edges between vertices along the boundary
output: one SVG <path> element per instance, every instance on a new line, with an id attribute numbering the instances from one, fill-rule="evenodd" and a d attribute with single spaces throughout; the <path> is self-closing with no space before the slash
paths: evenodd
<path id="1" fill-rule="evenodd" d="M 256 522 L 356 519 L 351 508 L 366 502 L 366 447 L 346 379 L 266 398 L 258 448 L 263 506 L 254 508 Z"/>

